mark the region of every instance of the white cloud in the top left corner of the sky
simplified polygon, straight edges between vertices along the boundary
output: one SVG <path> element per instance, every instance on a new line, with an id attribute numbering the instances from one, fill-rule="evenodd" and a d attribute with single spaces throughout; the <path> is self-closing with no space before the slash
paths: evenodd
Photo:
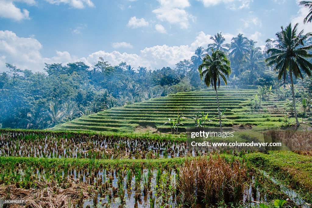
<path id="1" fill-rule="evenodd" d="M 34 0 L 1 0 L 0 17 L 10 18 L 16 21 L 20 21 L 22 19 L 30 19 L 29 11 L 27 9 L 17 8 L 14 2 L 24 2 L 29 5 L 36 3 Z"/>

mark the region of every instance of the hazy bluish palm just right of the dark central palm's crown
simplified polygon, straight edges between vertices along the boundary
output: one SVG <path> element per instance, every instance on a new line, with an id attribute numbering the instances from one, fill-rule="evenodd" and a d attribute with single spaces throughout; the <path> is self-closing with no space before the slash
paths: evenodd
<path id="1" fill-rule="evenodd" d="M 234 60 L 236 60 L 236 62 L 238 63 L 238 67 L 240 67 L 244 56 L 248 53 L 249 45 L 250 45 L 250 42 L 241 33 L 239 33 L 237 37 L 232 38 L 232 42 L 231 42 L 232 51 L 230 52 L 230 55 L 234 57 Z M 239 69 L 239 74 L 240 73 L 241 73 L 241 70 Z"/>

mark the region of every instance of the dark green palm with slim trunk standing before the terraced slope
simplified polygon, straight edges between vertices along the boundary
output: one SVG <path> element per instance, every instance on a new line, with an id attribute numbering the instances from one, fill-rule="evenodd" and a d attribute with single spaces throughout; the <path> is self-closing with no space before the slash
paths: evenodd
<path id="1" fill-rule="evenodd" d="M 230 67 L 230 61 L 227 59 L 227 55 L 223 51 L 220 50 L 214 51 L 212 49 L 211 56 L 207 54 L 204 57 L 202 64 L 198 67 L 198 72 L 201 79 L 205 76 L 204 81 L 207 87 L 212 85 L 212 87 L 216 91 L 220 131 L 222 132 L 221 112 L 219 106 L 217 86 L 220 87 L 220 77 L 227 85 L 227 78 L 229 78 L 229 75 L 232 72 Z"/>

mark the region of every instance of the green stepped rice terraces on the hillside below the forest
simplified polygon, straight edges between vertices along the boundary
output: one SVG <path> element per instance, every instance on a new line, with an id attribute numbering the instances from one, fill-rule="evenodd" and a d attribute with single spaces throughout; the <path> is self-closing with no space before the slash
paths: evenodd
<path id="1" fill-rule="evenodd" d="M 282 114 L 271 116 L 251 112 L 247 106 L 250 100 L 257 94 L 255 90 L 220 88 L 218 91 L 220 109 L 227 109 L 222 118 L 224 126 L 249 124 L 256 126 L 275 125 L 280 123 Z M 177 93 L 166 97 L 150 99 L 144 102 L 113 107 L 89 116 L 82 116 L 70 122 L 56 126 L 54 129 L 66 130 L 93 130 L 93 131 L 133 131 L 139 126 L 152 126 L 158 131 L 168 131 L 169 124 L 164 125 L 168 118 L 176 118 L 178 112 L 188 119 L 183 120 L 183 128 L 194 126 L 194 117 L 197 112 L 209 113 L 207 126 L 215 126 L 218 123 L 216 116 L 217 101 L 212 89 L 193 92 Z M 278 118 L 279 117 L 279 118 Z"/>

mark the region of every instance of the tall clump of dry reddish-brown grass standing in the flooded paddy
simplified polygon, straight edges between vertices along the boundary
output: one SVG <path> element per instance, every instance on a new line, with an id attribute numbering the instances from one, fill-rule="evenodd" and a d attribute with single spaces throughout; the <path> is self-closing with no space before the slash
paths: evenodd
<path id="1" fill-rule="evenodd" d="M 186 160 L 180 168 L 179 194 L 183 204 L 216 204 L 220 201 L 238 204 L 243 197 L 248 170 L 245 164 L 227 163 L 219 156 Z"/>

